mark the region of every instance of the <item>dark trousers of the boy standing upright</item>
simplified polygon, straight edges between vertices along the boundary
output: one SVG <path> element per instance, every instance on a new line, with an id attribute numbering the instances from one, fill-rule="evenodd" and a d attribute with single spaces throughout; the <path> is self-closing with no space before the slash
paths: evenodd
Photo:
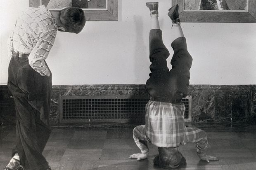
<path id="1" fill-rule="evenodd" d="M 8 88 L 16 108 L 17 143 L 13 155 L 19 154 L 25 170 L 45 170 L 48 163 L 42 152 L 51 133 L 52 75 L 42 77 L 31 68 L 28 58 L 14 56 L 8 74 Z"/>

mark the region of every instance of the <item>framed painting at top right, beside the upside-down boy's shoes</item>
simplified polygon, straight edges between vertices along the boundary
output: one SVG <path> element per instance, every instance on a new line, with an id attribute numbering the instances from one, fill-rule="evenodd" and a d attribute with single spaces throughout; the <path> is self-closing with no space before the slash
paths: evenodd
<path id="1" fill-rule="evenodd" d="M 256 0 L 172 0 L 182 22 L 256 23 Z"/>

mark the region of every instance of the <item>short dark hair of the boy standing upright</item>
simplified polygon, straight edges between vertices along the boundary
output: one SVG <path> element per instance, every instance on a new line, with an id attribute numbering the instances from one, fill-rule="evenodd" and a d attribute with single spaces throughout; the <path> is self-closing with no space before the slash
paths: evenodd
<path id="1" fill-rule="evenodd" d="M 81 8 L 67 7 L 59 12 L 59 19 L 67 32 L 80 33 L 85 26 L 85 14 Z"/>

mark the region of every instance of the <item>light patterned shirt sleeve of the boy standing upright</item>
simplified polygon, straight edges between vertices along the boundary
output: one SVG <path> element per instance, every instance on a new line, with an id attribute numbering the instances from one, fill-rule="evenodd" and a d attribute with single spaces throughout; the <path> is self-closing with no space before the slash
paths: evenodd
<path id="1" fill-rule="evenodd" d="M 30 55 L 28 56 L 28 61 L 31 68 L 33 68 L 42 76 L 50 76 L 50 71 L 45 64 L 45 59 L 47 58 L 50 49 L 52 48 L 55 37 L 55 30 L 40 36 L 38 42 L 36 43 L 35 47 L 33 47 Z"/>

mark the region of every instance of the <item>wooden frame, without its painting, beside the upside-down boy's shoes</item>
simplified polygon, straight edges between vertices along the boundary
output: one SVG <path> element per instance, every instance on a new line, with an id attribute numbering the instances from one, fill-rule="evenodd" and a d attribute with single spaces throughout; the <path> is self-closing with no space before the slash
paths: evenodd
<path id="1" fill-rule="evenodd" d="M 179 5 L 181 22 L 230 22 L 256 23 L 256 0 L 247 0 L 247 9 L 228 10 L 185 10 L 185 0 L 172 0 L 172 6 Z"/>

